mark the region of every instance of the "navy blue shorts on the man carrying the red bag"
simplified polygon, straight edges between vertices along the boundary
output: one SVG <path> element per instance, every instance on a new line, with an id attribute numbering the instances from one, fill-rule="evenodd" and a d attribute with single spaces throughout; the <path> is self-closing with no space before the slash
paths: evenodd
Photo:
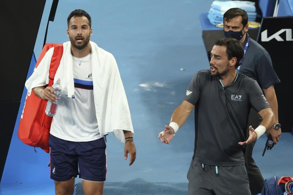
<path id="1" fill-rule="evenodd" d="M 50 135 L 49 146 L 51 179 L 68 181 L 79 175 L 79 178 L 88 181 L 106 180 L 106 137 L 87 142 L 74 142 Z"/>

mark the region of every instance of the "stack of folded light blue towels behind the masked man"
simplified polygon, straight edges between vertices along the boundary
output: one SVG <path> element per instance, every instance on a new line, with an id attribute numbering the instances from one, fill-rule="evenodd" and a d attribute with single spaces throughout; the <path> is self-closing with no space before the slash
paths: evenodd
<path id="1" fill-rule="evenodd" d="M 255 3 L 250 1 L 214 1 L 208 12 L 208 19 L 214 25 L 223 23 L 223 15 L 230 8 L 244 9 L 248 14 L 248 21 L 255 21 Z"/>

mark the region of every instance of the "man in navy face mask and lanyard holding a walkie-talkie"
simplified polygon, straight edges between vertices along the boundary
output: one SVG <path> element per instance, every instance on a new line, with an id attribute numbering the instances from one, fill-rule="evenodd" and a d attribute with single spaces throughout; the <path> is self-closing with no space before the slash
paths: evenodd
<path id="1" fill-rule="evenodd" d="M 244 57 L 240 61 L 240 66 L 237 70 L 256 80 L 259 86 L 262 88 L 265 97 L 271 106 L 275 115 L 274 124 L 278 123 L 278 104 L 277 97 L 273 85 L 279 83 L 280 80 L 275 73 L 272 65 L 272 61 L 269 53 L 256 41 L 251 39 L 247 33 L 248 31 L 248 15 L 243 9 L 231 8 L 224 14 L 224 34 L 225 37 L 235 38 L 243 44 Z M 255 109 L 251 109 L 248 118 L 248 126 L 246 137 L 249 136 L 249 125 L 252 127 L 259 126 L 262 118 L 258 115 Z M 274 126 L 275 127 L 275 126 Z M 277 128 L 271 128 L 269 133 L 274 133 Z M 281 129 L 278 129 L 281 133 Z M 279 138 L 273 139 L 274 144 L 277 144 Z M 249 186 L 251 194 L 260 193 L 264 185 L 263 177 L 259 171 L 259 168 L 255 165 L 255 161 L 252 158 L 252 150 L 255 142 L 246 145 L 244 158 L 245 165 L 248 171 Z"/>

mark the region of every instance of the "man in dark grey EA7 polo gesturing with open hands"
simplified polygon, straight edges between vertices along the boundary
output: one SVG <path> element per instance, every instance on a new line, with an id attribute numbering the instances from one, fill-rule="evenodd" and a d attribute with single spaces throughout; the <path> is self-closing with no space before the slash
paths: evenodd
<path id="1" fill-rule="evenodd" d="M 169 144 L 195 107 L 194 156 L 187 174 L 189 195 L 250 194 L 244 145 L 270 129 L 274 115 L 257 82 L 236 71 L 243 54 L 241 42 L 233 38 L 216 41 L 211 69 L 194 75 L 169 126 L 159 133 L 161 142 Z M 258 127 L 249 127 L 246 140 L 251 108 L 263 120 Z M 273 137 L 278 136 L 276 131 Z"/>

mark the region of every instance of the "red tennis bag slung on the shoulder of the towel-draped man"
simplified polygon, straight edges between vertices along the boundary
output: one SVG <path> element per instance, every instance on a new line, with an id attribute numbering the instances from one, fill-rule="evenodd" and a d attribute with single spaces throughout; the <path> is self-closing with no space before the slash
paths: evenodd
<path id="1" fill-rule="evenodd" d="M 54 52 L 50 62 L 48 86 L 53 85 L 55 73 L 63 54 L 63 45 L 55 43 L 45 44 L 35 66 L 35 68 L 38 67 L 46 52 L 52 47 L 54 47 Z M 47 100 L 38 98 L 33 91 L 31 91 L 31 93 L 27 92 L 24 109 L 20 117 L 18 137 L 24 144 L 40 147 L 45 152 L 49 153 L 48 142 L 52 117 L 45 114 L 46 105 Z"/>

